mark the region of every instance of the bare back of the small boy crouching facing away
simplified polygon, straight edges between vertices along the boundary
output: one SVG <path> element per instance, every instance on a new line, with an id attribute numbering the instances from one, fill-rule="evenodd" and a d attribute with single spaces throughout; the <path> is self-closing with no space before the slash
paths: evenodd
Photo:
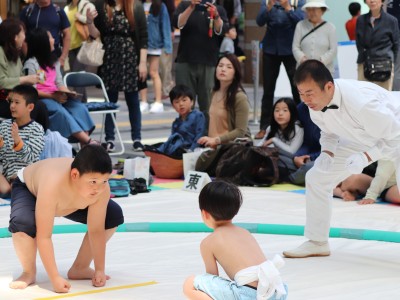
<path id="1" fill-rule="evenodd" d="M 203 259 L 215 257 L 231 280 L 240 270 L 266 261 L 250 232 L 232 223 L 217 227 L 202 241 L 200 248 Z"/>

